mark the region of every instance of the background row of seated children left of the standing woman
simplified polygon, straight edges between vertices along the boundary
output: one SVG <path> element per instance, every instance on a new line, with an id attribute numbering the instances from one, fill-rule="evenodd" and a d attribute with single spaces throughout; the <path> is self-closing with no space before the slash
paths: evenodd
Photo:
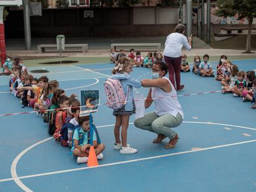
<path id="1" fill-rule="evenodd" d="M 124 49 L 121 49 L 119 54 L 116 53 L 115 49 L 111 49 L 109 57 L 111 63 L 116 64 L 121 57 L 126 57 Z M 164 62 L 161 52 L 148 52 L 147 56 L 144 58 L 140 55 L 140 51 L 135 52 L 134 49 L 130 49 L 128 57 L 130 57 L 130 59 L 134 59 L 134 67 L 147 67 L 151 69 L 152 65 L 156 61 Z"/>

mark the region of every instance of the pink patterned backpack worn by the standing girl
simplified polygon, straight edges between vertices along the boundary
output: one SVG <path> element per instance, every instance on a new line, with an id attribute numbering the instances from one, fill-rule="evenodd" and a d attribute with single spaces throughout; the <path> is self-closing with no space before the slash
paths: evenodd
<path id="1" fill-rule="evenodd" d="M 124 94 L 120 80 L 108 78 L 104 83 L 104 89 L 107 97 L 107 106 L 109 108 L 120 109 L 126 104 L 127 97 L 126 94 Z"/>

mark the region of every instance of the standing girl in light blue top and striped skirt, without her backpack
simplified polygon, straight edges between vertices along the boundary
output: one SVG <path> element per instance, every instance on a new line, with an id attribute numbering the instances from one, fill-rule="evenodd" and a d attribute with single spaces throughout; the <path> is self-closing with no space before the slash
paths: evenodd
<path id="1" fill-rule="evenodd" d="M 120 80 L 127 101 L 124 106 L 119 109 L 114 109 L 113 112 L 113 115 L 116 116 L 116 124 L 114 126 L 114 136 L 116 143 L 114 143 L 114 149 L 120 149 L 121 154 L 132 154 L 137 152 L 137 149 L 134 149 L 129 144 L 127 144 L 127 129 L 129 127 L 129 118 L 130 115 L 135 114 L 133 87 L 140 88 L 141 86 L 139 80 L 135 80 L 129 75 L 129 73 L 132 72 L 133 66 L 133 59 L 130 59 L 129 57 L 121 57 L 112 71 L 113 75 L 109 77 L 114 80 Z M 121 125 L 122 142 L 120 140 Z"/>

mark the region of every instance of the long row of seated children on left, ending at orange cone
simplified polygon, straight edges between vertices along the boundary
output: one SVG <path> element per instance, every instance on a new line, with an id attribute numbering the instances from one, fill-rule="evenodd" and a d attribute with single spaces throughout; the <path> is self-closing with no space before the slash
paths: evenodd
<path id="1" fill-rule="evenodd" d="M 49 123 L 48 133 L 62 146 L 71 148 L 78 164 L 87 162 L 90 149 L 89 116 L 79 117 L 80 101 L 75 95 L 66 96 L 65 91 L 59 89 L 59 82 L 49 81 L 46 76 L 37 79 L 11 67 L 5 74 L 10 75 L 10 91 L 20 98 L 23 107 L 33 107 L 38 114 L 42 114 L 44 122 Z M 101 143 L 95 125 L 92 128 L 96 156 L 103 159 L 105 145 Z"/>

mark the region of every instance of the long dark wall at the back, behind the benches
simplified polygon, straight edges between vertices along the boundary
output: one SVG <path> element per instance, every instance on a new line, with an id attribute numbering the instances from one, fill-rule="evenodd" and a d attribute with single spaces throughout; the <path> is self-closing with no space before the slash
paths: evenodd
<path id="1" fill-rule="evenodd" d="M 30 17 L 33 38 L 59 34 L 70 37 L 90 36 L 165 36 L 178 23 L 177 7 L 93 8 L 92 20 L 83 17 L 84 10 L 44 9 L 42 16 Z M 23 10 L 10 10 L 5 22 L 6 38 L 23 38 Z"/>

